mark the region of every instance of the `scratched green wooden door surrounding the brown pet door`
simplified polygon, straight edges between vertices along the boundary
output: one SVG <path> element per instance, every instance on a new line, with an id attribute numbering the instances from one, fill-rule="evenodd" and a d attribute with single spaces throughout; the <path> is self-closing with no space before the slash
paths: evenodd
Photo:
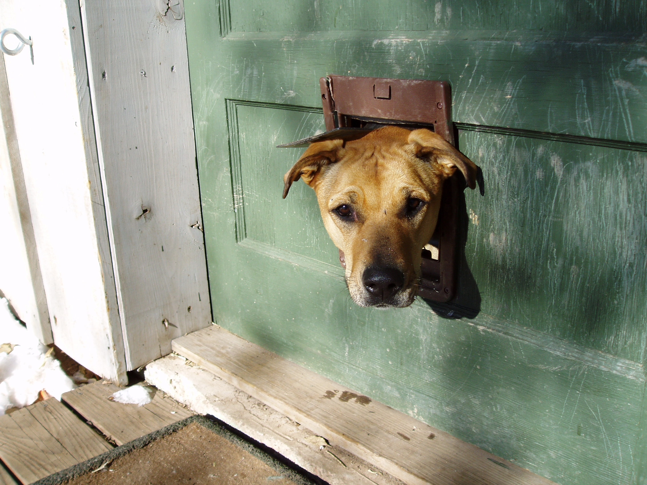
<path id="1" fill-rule="evenodd" d="M 186 2 L 219 325 L 561 484 L 646 483 L 644 0 Z M 326 74 L 446 80 L 459 299 L 356 307 L 314 192 Z"/>

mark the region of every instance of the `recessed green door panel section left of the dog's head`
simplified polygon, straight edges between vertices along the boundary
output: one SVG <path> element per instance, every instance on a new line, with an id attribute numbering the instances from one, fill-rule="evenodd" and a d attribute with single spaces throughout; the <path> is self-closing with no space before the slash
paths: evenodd
<path id="1" fill-rule="evenodd" d="M 261 242 L 337 266 L 338 253 L 323 228 L 316 202 L 303 204 L 305 198 L 314 200 L 311 189 L 298 184 L 296 197 L 283 203 L 276 191 L 287 171 L 285 163 L 294 164 L 302 152 L 278 150 L 276 145 L 295 135 L 305 138 L 325 131 L 322 111 L 236 101 L 227 105 L 232 144 L 239 150 L 232 159 L 232 170 L 239 178 L 235 197 L 242 202 L 237 204 L 239 242 Z M 286 231 L 285 221 L 299 222 Z"/>

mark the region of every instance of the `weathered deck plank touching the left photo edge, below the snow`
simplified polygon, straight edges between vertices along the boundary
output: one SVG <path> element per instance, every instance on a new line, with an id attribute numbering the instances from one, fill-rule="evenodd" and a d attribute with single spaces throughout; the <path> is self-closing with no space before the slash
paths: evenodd
<path id="1" fill-rule="evenodd" d="M 78 463 L 26 408 L 0 416 L 0 458 L 24 484 Z"/>

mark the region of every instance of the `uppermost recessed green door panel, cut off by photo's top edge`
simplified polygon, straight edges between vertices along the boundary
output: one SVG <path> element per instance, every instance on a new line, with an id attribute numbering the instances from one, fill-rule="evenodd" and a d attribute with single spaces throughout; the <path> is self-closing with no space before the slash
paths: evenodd
<path id="1" fill-rule="evenodd" d="M 644 32 L 644 1 L 256 0 L 221 3 L 232 32 L 553 30 Z"/>

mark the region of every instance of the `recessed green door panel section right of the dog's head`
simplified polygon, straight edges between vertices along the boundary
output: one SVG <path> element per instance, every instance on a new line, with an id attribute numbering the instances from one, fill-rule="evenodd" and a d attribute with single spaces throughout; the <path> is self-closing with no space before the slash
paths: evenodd
<path id="1" fill-rule="evenodd" d="M 467 193 L 481 310 L 644 361 L 647 153 L 462 132 L 487 174 Z"/>

